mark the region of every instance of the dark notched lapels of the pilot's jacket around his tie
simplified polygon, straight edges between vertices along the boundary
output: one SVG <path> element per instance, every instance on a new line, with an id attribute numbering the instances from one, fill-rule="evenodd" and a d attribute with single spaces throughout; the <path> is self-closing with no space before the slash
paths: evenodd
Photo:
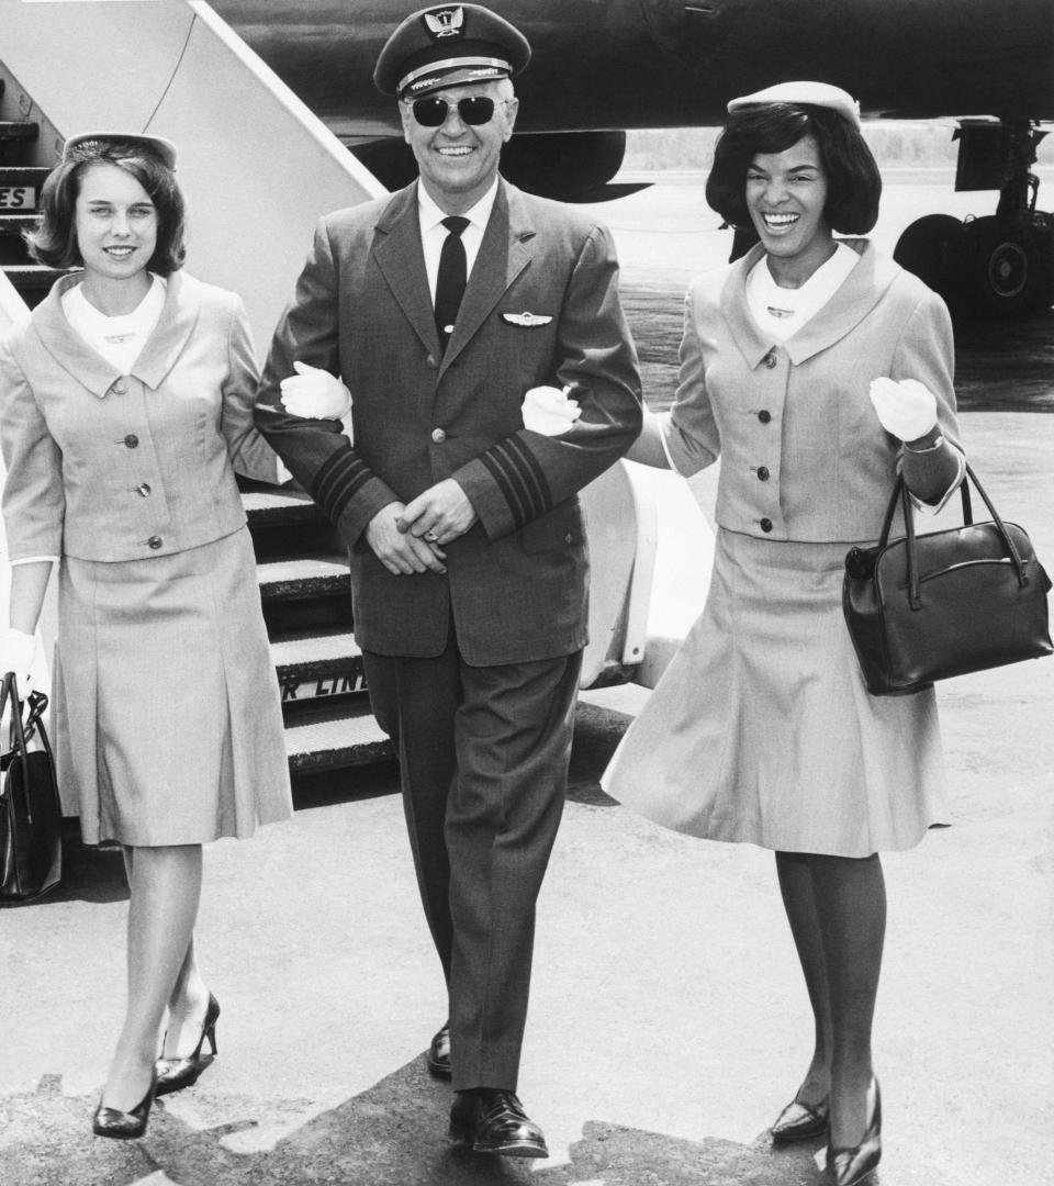
<path id="1" fill-rule="evenodd" d="M 417 185 L 414 181 L 394 193 L 382 208 L 376 223 L 378 235 L 373 255 L 417 337 L 433 357 L 439 358 L 439 334 L 417 218 Z M 458 325 L 442 357 L 440 375 L 465 349 L 502 294 L 528 266 L 531 251 L 526 243 L 535 234 L 523 195 L 500 178 L 494 208 L 465 289 Z"/>

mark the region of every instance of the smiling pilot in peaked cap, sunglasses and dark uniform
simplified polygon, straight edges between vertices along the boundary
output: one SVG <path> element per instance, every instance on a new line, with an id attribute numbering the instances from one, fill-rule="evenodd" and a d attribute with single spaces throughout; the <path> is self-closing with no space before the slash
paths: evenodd
<path id="1" fill-rule="evenodd" d="M 453 1078 L 451 1135 L 537 1158 L 545 1140 L 516 1089 L 587 640 L 577 491 L 637 436 L 640 383 L 607 230 L 499 177 L 529 58 L 477 5 L 392 33 L 373 77 L 420 179 L 322 219 L 257 422 L 349 547 L 447 981 L 428 1065 Z M 292 377 L 294 363 L 315 370 Z M 336 376 L 353 445 L 337 419 L 304 419 L 346 410 Z M 525 425 L 529 391 L 550 415 Z M 579 415 L 561 435 L 568 391 Z"/>

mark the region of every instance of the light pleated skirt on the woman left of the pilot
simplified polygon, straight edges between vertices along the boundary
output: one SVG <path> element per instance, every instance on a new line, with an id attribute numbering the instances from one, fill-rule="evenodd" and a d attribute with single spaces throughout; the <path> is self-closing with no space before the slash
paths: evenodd
<path id="1" fill-rule="evenodd" d="M 85 843 L 200 844 L 292 815 L 247 528 L 167 556 L 66 556 L 58 602 L 56 767 Z"/>

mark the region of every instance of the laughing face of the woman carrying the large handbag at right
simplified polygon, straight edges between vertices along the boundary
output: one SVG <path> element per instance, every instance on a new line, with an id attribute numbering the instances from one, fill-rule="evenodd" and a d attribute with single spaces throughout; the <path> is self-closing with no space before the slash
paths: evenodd
<path id="1" fill-rule="evenodd" d="M 769 256 L 807 264 L 815 255 L 816 267 L 830 256 L 828 179 L 813 136 L 782 152 L 759 153 L 747 170 L 746 199 Z"/>

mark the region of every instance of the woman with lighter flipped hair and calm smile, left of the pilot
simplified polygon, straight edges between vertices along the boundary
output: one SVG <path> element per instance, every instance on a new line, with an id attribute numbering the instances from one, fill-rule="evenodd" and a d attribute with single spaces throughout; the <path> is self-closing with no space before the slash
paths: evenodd
<path id="1" fill-rule="evenodd" d="M 235 470 L 279 480 L 253 426 L 241 300 L 180 270 L 166 140 L 75 136 L 36 259 L 63 276 L 0 345 L 12 561 L 0 664 L 25 676 L 59 563 L 56 761 L 89 844 L 123 846 L 128 1003 L 94 1130 L 141 1136 L 193 1083 L 219 1005 L 197 965 L 202 846 L 290 815 L 277 686 Z M 159 1059 L 160 1054 L 160 1059 Z"/>

